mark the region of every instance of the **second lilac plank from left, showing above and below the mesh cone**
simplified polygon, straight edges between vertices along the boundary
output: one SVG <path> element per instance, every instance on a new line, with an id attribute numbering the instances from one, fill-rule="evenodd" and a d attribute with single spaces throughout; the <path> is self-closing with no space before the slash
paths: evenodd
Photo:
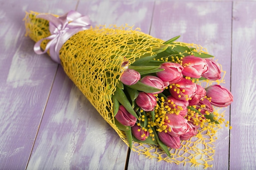
<path id="1" fill-rule="evenodd" d="M 143 18 L 133 17 L 128 24 L 140 22 L 148 32 L 153 3 L 83 1 L 77 10 L 90 14 L 94 24 L 113 24 L 117 21 L 111 16 L 127 13 L 124 18 L 128 18 L 140 7 L 146 10 Z M 125 23 L 124 19 L 117 24 Z M 27 169 L 124 169 L 127 150 L 115 130 L 59 67 Z"/>

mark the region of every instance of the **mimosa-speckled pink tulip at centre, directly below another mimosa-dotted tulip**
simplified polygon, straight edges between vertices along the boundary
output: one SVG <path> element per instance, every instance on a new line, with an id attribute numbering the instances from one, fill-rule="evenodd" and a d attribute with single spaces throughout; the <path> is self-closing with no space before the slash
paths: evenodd
<path id="1" fill-rule="evenodd" d="M 171 109 L 176 109 L 177 111 L 179 111 L 180 115 L 182 117 L 186 116 L 186 114 L 188 113 L 188 109 L 186 107 L 189 106 L 188 101 L 175 99 L 171 95 L 167 96 L 167 101 L 168 100 L 170 100 L 170 102 L 168 102 L 168 106 Z M 171 102 L 173 102 L 175 104 L 175 106 L 173 106 L 173 104 L 171 104 Z"/>

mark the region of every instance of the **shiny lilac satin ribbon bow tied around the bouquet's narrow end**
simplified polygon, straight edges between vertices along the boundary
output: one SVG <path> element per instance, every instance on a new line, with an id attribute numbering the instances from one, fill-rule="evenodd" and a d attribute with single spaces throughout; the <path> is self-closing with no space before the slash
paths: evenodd
<path id="1" fill-rule="evenodd" d="M 49 50 L 52 60 L 61 63 L 59 58 L 59 51 L 63 44 L 74 34 L 79 31 L 88 29 L 90 26 L 90 19 L 88 16 L 82 16 L 76 11 L 69 11 L 65 15 L 55 17 L 52 14 L 39 14 L 36 18 L 43 18 L 49 21 L 49 31 L 51 35 L 36 42 L 34 51 L 37 54 L 46 53 Z M 50 40 L 42 51 L 40 44 L 43 40 Z"/>

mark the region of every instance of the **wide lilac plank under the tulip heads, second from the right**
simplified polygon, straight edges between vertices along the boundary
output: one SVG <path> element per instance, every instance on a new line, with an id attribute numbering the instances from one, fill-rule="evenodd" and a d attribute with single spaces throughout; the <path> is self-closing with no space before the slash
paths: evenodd
<path id="1" fill-rule="evenodd" d="M 216 56 L 226 73 L 226 84 L 230 84 L 231 62 L 231 2 L 170 2 L 157 1 L 154 11 L 151 35 L 168 40 L 181 35 L 178 41 L 200 44 Z M 229 108 L 226 120 L 229 119 Z M 213 169 L 228 169 L 229 167 L 229 129 L 218 131 Z M 182 164 L 157 162 L 157 159 L 147 159 L 144 155 L 131 152 L 128 169 L 194 169 L 190 163 Z M 198 166 L 202 169 L 203 166 Z"/>

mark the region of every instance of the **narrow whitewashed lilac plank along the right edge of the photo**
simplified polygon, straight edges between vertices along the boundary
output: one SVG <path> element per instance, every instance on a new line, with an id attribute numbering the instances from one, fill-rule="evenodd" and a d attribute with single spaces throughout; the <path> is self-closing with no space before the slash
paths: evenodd
<path id="1" fill-rule="evenodd" d="M 256 2 L 234 2 L 230 169 L 256 168 Z"/>

